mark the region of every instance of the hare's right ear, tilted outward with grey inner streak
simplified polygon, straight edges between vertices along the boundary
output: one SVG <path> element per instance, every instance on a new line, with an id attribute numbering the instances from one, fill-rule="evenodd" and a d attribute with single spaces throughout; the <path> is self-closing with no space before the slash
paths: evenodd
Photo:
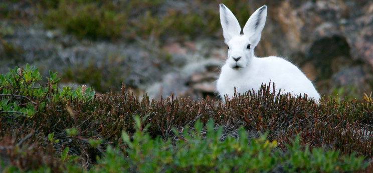
<path id="1" fill-rule="evenodd" d="M 244 26 L 244 35 L 249 38 L 252 47 L 255 47 L 260 41 L 266 18 L 267 5 L 263 5 L 250 16 Z"/>

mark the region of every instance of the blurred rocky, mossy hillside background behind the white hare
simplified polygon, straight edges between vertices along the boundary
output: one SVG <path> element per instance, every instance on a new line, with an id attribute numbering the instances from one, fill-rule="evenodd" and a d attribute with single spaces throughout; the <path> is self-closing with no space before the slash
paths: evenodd
<path id="1" fill-rule="evenodd" d="M 321 94 L 372 90 L 372 0 L 1 0 L 0 72 L 30 63 L 99 93 L 217 99 L 221 2 L 241 26 L 267 4 L 256 55 L 286 57 Z"/>

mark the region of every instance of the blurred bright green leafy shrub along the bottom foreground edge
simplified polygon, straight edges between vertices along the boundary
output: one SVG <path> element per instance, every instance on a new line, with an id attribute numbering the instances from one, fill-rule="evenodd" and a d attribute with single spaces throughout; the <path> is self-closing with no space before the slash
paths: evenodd
<path id="1" fill-rule="evenodd" d="M 215 127 L 210 119 L 206 130 L 197 121 L 194 129 L 185 127 L 182 134 L 173 131 L 178 138 L 171 140 L 152 138 L 146 128 L 141 129 L 136 118 L 136 132 L 129 136 L 122 132 L 122 140 L 128 145 L 125 153 L 109 147 L 98 160 L 94 171 L 112 172 L 267 172 L 283 168 L 287 171 L 333 172 L 354 171 L 367 166 L 363 157 L 340 156 L 338 151 L 300 145 L 300 138 L 287 145 L 285 152 L 277 148 L 276 141 L 266 135 L 249 138 L 244 128 L 238 129 L 237 139 L 228 136 L 221 139 L 223 127 Z"/>

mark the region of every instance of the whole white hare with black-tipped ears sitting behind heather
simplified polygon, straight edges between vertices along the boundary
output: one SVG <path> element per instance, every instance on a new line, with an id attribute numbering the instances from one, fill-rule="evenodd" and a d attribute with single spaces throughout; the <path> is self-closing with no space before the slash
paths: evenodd
<path id="1" fill-rule="evenodd" d="M 254 55 L 266 17 L 267 5 L 263 5 L 250 16 L 241 34 L 241 26 L 235 15 L 227 6 L 220 4 L 220 21 L 225 43 L 228 44 L 228 58 L 217 82 L 220 96 L 224 100 L 226 94 L 233 96 L 234 87 L 237 93 L 243 93 L 258 90 L 262 83 L 272 81 L 276 90 L 281 89 L 281 93 L 306 93 L 308 97 L 318 100 L 319 93 L 297 66 L 281 57 L 259 58 Z"/>

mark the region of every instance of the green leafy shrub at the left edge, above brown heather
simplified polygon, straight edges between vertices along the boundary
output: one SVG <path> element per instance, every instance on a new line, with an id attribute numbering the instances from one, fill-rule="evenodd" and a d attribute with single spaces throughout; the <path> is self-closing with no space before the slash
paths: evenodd
<path id="1" fill-rule="evenodd" d="M 26 68 L 16 66 L 5 75 L 0 74 L 0 113 L 32 116 L 51 100 L 78 98 L 86 102 L 93 98 L 95 91 L 85 85 L 74 90 L 68 86 L 58 88 L 60 78 L 57 73 L 49 73 L 47 84 L 41 84 L 39 68 L 29 64 Z"/>

